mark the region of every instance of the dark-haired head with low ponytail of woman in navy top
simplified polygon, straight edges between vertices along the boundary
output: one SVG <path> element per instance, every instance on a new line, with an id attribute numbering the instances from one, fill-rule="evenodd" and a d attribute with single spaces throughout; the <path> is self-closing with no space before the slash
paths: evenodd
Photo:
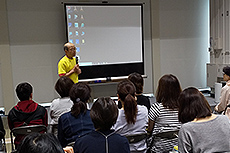
<path id="1" fill-rule="evenodd" d="M 85 113 L 87 110 L 86 102 L 91 97 L 91 88 L 88 84 L 79 82 L 70 89 L 69 96 L 74 103 L 71 113 L 77 117 L 81 112 Z"/>

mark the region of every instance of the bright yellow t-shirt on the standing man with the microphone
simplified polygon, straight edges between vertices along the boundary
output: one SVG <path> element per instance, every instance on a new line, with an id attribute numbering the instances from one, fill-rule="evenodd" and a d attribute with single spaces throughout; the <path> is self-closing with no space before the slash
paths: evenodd
<path id="1" fill-rule="evenodd" d="M 64 56 L 60 59 L 58 62 L 58 75 L 64 76 L 67 72 L 73 69 L 73 67 L 76 65 L 76 58 L 68 58 L 67 56 Z M 73 73 L 69 76 L 70 79 L 73 80 L 74 83 L 78 82 L 78 74 Z"/>

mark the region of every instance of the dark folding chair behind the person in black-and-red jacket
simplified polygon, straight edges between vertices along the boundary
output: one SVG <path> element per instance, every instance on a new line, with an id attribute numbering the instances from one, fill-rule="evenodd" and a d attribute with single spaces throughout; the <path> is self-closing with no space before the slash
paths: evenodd
<path id="1" fill-rule="evenodd" d="M 47 132 L 47 127 L 45 125 L 29 125 L 29 126 L 20 126 L 20 127 L 13 128 L 10 132 L 12 153 L 17 151 L 14 148 L 13 136 L 17 136 L 17 135 L 26 136 L 33 132 L 42 132 L 42 131 Z"/>

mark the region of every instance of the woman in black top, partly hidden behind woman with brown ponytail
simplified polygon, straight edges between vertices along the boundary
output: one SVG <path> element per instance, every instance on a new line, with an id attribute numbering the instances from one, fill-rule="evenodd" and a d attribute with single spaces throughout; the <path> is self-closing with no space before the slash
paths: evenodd
<path id="1" fill-rule="evenodd" d="M 137 97 L 137 104 L 144 105 L 150 109 L 150 101 L 149 97 L 143 95 L 143 86 L 144 86 L 144 79 L 139 73 L 131 73 L 128 79 L 135 85 L 136 87 L 136 97 Z"/>

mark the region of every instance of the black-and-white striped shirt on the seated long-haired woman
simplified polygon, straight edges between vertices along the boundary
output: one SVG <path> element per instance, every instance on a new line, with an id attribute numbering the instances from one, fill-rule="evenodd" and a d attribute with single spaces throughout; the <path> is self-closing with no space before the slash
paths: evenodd
<path id="1" fill-rule="evenodd" d="M 161 103 L 154 103 L 150 110 L 148 118 L 155 122 L 152 134 L 178 130 L 181 123 L 178 121 L 178 111 L 165 108 Z M 153 139 L 153 136 L 152 136 Z M 173 146 L 178 145 L 178 139 L 166 139 L 155 137 L 152 144 L 152 151 L 161 153 L 172 151 Z"/>

